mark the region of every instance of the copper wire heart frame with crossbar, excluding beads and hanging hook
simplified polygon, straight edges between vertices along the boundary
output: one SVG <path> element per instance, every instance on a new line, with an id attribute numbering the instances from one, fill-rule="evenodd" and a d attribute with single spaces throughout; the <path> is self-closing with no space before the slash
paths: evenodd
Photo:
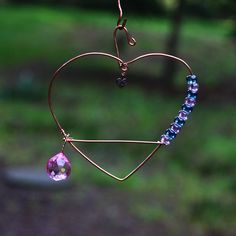
<path id="1" fill-rule="evenodd" d="M 141 55 L 139 57 L 136 57 L 133 60 L 130 61 L 123 61 L 122 59 L 120 59 L 119 57 L 116 57 L 114 55 L 108 54 L 108 53 L 104 53 L 104 52 L 88 52 L 88 53 L 84 53 L 84 54 L 80 54 L 74 58 L 71 58 L 70 60 L 68 60 L 67 62 L 65 62 L 61 67 L 59 67 L 57 69 L 57 71 L 54 73 L 50 84 L 49 84 L 49 88 L 48 88 L 48 104 L 49 104 L 49 109 L 51 111 L 51 114 L 53 116 L 53 119 L 60 131 L 60 133 L 63 135 L 63 140 L 65 141 L 62 150 L 64 150 L 64 146 L 66 143 L 69 143 L 71 145 L 71 147 L 78 152 L 82 157 L 85 158 L 85 160 L 87 160 L 90 164 L 92 164 L 94 167 L 96 167 L 97 169 L 99 169 L 100 171 L 102 171 L 103 173 L 105 173 L 106 175 L 112 177 L 115 180 L 118 181 L 124 181 L 126 179 L 128 179 L 131 175 L 133 175 L 136 171 L 138 171 L 148 160 L 150 160 L 153 155 L 160 149 L 160 147 L 163 145 L 162 142 L 160 141 L 142 141 L 142 140 L 85 140 L 85 139 L 73 139 L 71 138 L 62 128 L 61 124 L 59 123 L 59 120 L 56 117 L 56 114 L 54 112 L 53 109 L 53 105 L 52 105 L 52 88 L 53 88 L 53 83 L 55 81 L 56 78 L 58 78 L 59 73 L 69 64 L 73 63 L 74 61 L 77 61 L 83 57 L 88 57 L 88 56 L 103 56 L 103 57 L 107 57 L 107 58 L 111 58 L 114 59 L 115 61 L 118 62 L 118 64 L 120 65 L 121 68 L 128 68 L 128 66 L 136 61 L 139 61 L 143 58 L 148 58 L 148 57 L 165 57 L 165 58 L 169 58 L 171 60 L 177 61 L 181 64 L 183 64 L 188 72 L 192 75 L 192 69 L 191 67 L 182 59 L 169 55 L 169 54 L 165 54 L 165 53 L 148 53 L 148 54 L 144 54 Z M 117 177 L 116 175 L 110 173 L 109 171 L 107 171 L 106 169 L 102 168 L 100 165 L 98 165 L 96 162 L 94 162 L 88 155 L 84 154 L 76 145 L 75 143 L 130 143 L 130 144 L 156 144 L 156 147 L 153 149 L 153 151 L 147 155 L 145 157 L 145 159 L 138 164 L 138 166 L 136 166 L 130 173 L 128 173 L 126 176 L 124 176 L 123 178 Z"/>

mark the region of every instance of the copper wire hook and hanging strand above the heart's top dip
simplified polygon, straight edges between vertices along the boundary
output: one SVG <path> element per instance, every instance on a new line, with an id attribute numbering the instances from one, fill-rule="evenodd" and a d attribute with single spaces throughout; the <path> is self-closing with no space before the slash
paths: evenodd
<path id="1" fill-rule="evenodd" d="M 120 51 L 119 51 L 118 42 L 117 42 L 117 31 L 118 30 L 123 30 L 125 32 L 127 43 L 130 46 L 135 46 L 136 45 L 136 40 L 135 40 L 134 37 L 132 37 L 129 34 L 128 29 L 126 28 L 127 19 L 124 19 L 124 20 L 122 19 L 123 18 L 123 11 L 122 11 L 122 8 L 121 8 L 120 0 L 118 0 L 118 8 L 119 8 L 120 14 L 119 14 L 119 18 L 118 18 L 118 21 L 117 21 L 117 26 L 114 29 L 113 39 L 114 39 L 116 55 L 117 55 L 118 58 L 120 58 Z M 126 66 L 123 65 L 121 62 L 119 62 L 119 66 L 120 66 L 121 71 L 124 72 L 124 68 L 126 68 Z"/>

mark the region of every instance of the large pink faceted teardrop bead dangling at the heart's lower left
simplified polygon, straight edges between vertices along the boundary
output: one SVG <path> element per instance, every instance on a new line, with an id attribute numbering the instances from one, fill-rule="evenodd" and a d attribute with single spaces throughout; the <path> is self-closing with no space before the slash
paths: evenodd
<path id="1" fill-rule="evenodd" d="M 47 162 L 47 173 L 55 181 L 64 180 L 69 177 L 71 164 L 63 152 L 51 157 Z"/>

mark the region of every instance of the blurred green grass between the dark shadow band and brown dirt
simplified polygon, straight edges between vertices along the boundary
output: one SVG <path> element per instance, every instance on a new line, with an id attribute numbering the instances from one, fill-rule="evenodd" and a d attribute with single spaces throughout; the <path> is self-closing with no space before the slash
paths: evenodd
<path id="1" fill-rule="evenodd" d="M 56 112 L 66 131 L 75 138 L 156 140 L 168 127 L 182 100 L 163 99 L 154 92 L 147 95 L 145 90 L 132 85 L 120 91 L 110 84 L 100 87 L 94 83 L 93 86 L 58 83 Z M 72 98 L 75 100 L 68 110 Z M 0 106 L 5 114 L 1 122 L 1 155 L 7 157 L 5 162 L 43 167 L 61 143 L 46 104 L 17 99 L 3 101 Z M 141 172 L 123 184 L 117 185 L 67 148 L 74 180 L 136 193 L 139 197 L 130 211 L 147 221 L 176 220 L 176 224 L 188 221 L 203 228 L 224 230 L 234 227 L 235 210 L 230 205 L 235 204 L 236 112 L 230 105 L 199 104 L 195 110 L 175 142 L 160 150 Z M 81 148 L 119 176 L 128 173 L 150 151 L 145 146 L 84 145 Z M 148 193 L 152 194 L 148 196 Z"/>

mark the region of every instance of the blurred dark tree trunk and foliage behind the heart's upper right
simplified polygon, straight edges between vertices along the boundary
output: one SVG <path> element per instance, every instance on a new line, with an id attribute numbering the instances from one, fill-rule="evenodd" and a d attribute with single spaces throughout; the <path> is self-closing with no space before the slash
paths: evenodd
<path id="1" fill-rule="evenodd" d="M 178 55 L 178 46 L 181 36 L 181 25 L 185 14 L 198 15 L 208 18 L 229 19 L 232 25 L 230 36 L 236 39 L 236 1 L 235 0 L 163 0 L 167 12 L 171 16 L 171 30 L 166 44 L 166 52 Z M 162 84 L 171 88 L 176 74 L 176 63 L 165 60 L 161 73 Z M 167 78 L 168 77 L 168 78 Z"/>

